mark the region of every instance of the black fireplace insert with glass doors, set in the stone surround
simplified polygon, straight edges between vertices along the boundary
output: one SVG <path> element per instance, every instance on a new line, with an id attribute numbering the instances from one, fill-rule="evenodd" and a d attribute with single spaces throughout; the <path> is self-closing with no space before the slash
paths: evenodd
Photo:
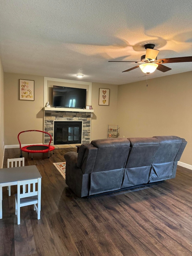
<path id="1" fill-rule="evenodd" d="M 54 145 L 82 143 L 82 121 L 54 121 L 53 123 Z"/>

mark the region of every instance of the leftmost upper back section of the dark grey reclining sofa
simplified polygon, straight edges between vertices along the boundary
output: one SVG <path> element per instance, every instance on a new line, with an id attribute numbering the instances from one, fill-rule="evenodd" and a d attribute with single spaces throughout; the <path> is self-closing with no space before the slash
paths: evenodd
<path id="1" fill-rule="evenodd" d="M 130 142 L 125 138 L 92 140 L 82 144 L 77 157 L 77 167 L 92 173 L 122 169 L 128 157 Z"/>

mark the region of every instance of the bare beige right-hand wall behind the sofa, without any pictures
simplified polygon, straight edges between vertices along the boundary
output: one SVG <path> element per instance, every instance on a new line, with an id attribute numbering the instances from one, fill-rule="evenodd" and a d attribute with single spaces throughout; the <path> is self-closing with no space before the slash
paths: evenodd
<path id="1" fill-rule="evenodd" d="M 192 71 L 118 86 L 120 137 L 176 135 L 192 165 Z"/>

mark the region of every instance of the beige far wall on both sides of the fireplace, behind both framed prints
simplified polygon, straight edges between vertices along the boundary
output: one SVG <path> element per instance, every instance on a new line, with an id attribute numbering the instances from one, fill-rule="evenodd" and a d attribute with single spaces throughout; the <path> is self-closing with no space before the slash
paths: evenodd
<path id="1" fill-rule="evenodd" d="M 19 100 L 19 79 L 35 80 L 35 101 Z M 54 84 L 61 85 L 55 82 Z M 109 106 L 98 105 L 99 88 L 110 89 Z M 116 124 L 117 88 L 117 85 L 92 83 L 91 104 L 94 113 L 91 118 L 91 140 L 107 138 L 108 124 Z M 44 130 L 43 97 L 44 77 L 5 73 L 5 145 L 18 145 L 17 135 L 20 131 Z M 29 133 L 21 134 L 22 144 L 43 142 L 40 134 L 31 132 L 30 136 L 28 135 Z"/>

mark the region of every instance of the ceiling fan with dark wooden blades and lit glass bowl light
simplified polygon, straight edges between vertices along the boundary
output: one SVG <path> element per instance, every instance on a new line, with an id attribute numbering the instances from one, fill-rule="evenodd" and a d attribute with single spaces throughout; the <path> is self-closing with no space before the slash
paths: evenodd
<path id="1" fill-rule="evenodd" d="M 135 68 L 139 68 L 143 71 L 143 73 L 150 74 L 154 72 L 156 69 L 162 72 L 167 72 L 171 70 L 171 68 L 162 65 L 162 63 L 174 63 L 174 62 L 191 62 L 192 56 L 189 57 L 178 57 L 178 58 L 168 58 L 168 59 L 157 59 L 159 50 L 155 50 L 155 44 L 146 44 L 144 45 L 146 49 L 146 54 L 141 56 L 140 61 L 109 61 L 109 62 L 135 62 L 140 63 L 141 65 L 135 66 L 133 68 L 129 68 L 122 72 L 128 72 Z"/>

